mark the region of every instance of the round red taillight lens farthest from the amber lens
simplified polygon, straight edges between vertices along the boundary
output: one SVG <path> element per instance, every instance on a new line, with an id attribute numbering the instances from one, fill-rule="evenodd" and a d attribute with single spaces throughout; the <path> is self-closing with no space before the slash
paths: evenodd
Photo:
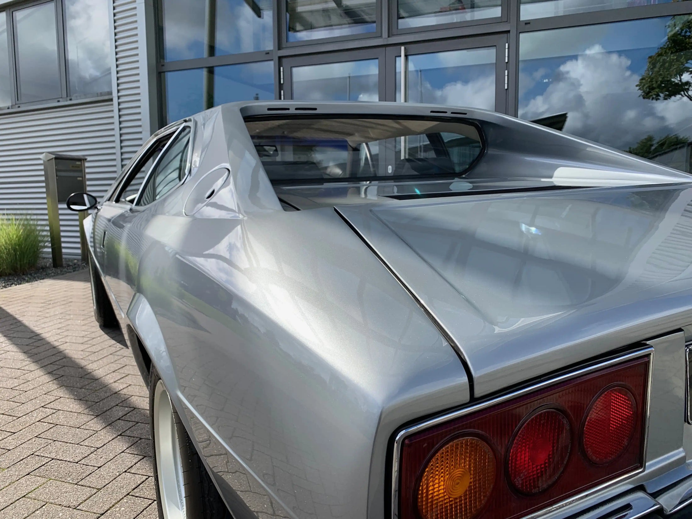
<path id="1" fill-rule="evenodd" d="M 595 399 L 584 421 L 584 452 L 595 464 L 607 464 L 625 452 L 635 434 L 637 404 L 625 388 L 612 388 Z"/>

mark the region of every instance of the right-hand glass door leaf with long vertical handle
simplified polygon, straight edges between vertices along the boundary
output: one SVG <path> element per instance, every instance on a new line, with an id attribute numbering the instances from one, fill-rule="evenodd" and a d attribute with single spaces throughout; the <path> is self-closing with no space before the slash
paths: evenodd
<path id="1" fill-rule="evenodd" d="M 386 100 L 447 104 L 506 113 L 507 36 L 387 49 Z M 403 80 L 401 60 L 406 63 Z"/>

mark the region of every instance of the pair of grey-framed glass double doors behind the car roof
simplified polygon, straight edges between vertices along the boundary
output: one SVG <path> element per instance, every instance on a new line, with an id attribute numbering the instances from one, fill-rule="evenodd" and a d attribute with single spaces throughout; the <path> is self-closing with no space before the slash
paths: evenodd
<path id="1" fill-rule="evenodd" d="M 401 102 L 403 89 L 406 102 L 506 113 L 506 44 L 498 35 L 289 57 L 284 99 Z"/>

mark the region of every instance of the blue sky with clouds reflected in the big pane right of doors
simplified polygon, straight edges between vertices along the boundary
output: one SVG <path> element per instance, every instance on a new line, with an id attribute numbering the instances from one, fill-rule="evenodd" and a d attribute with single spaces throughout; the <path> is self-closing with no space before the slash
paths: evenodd
<path id="1" fill-rule="evenodd" d="M 692 138 L 692 102 L 649 101 L 637 82 L 666 41 L 669 18 L 525 33 L 520 40 L 519 116 L 567 112 L 564 131 L 628 149 L 647 136 Z"/>

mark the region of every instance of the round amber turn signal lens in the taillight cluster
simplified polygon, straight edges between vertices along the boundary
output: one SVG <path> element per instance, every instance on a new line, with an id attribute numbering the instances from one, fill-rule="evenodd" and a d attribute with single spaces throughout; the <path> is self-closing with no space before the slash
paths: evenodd
<path id="1" fill-rule="evenodd" d="M 482 439 L 457 438 L 430 459 L 418 489 L 423 519 L 471 519 L 495 484 L 495 455 Z"/>

